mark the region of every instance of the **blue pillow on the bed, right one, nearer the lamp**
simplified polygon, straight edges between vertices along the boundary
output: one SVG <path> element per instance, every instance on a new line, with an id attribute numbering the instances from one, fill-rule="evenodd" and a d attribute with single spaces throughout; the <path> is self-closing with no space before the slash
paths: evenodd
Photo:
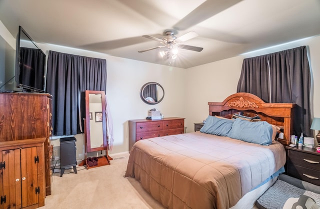
<path id="1" fill-rule="evenodd" d="M 266 121 L 250 122 L 236 118 L 227 136 L 250 143 L 269 145 L 272 143 L 272 126 Z"/>

